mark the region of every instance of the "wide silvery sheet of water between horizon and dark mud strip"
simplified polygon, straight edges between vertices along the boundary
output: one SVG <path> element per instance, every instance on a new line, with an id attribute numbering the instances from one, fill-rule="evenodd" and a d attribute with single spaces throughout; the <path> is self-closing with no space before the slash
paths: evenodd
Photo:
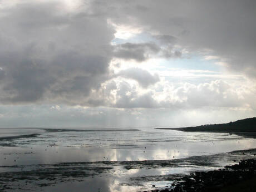
<path id="1" fill-rule="evenodd" d="M 3 147 L 2 154 L 10 152 L 14 154 L 3 155 L 3 158 L 11 160 L 4 161 L 0 158 L 0 163 L 3 165 L 72 161 L 165 160 L 243 150 L 256 146 L 255 139 L 244 139 L 234 134 L 188 133 L 145 128 L 141 131 L 122 132 L 43 131 L 37 137 L 0 141 L 0 145 L 1 143 L 17 146 Z M 14 162 L 14 158 L 17 157 L 19 159 Z"/>

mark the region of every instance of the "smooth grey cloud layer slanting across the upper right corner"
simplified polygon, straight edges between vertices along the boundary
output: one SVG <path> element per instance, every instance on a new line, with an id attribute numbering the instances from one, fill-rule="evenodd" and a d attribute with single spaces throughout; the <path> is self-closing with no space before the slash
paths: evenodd
<path id="1" fill-rule="evenodd" d="M 109 17 L 115 23 L 140 26 L 152 36 L 160 35 L 162 42 L 165 39 L 189 52 L 218 56 L 228 63 L 228 70 L 255 77 L 256 2 L 253 0 L 161 3 L 113 0 L 104 4 L 104 9 L 108 9 L 108 4 L 112 10 Z M 144 7 L 144 11 L 139 7 Z"/>

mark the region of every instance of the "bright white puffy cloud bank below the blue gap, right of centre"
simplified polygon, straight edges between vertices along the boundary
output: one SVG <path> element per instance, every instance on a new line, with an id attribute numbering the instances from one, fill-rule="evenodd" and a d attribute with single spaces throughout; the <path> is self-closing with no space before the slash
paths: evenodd
<path id="1" fill-rule="evenodd" d="M 248 84 L 249 85 L 249 84 Z M 160 81 L 154 87 L 141 91 L 138 86 L 122 80 L 114 88 L 114 100 L 109 106 L 118 108 L 151 108 L 196 110 L 204 107 L 216 109 L 246 109 L 254 110 L 253 95 L 255 87 L 248 87 L 236 83 L 229 84 L 223 80 L 209 83 L 180 83 Z M 248 92 L 247 90 L 250 90 Z"/>

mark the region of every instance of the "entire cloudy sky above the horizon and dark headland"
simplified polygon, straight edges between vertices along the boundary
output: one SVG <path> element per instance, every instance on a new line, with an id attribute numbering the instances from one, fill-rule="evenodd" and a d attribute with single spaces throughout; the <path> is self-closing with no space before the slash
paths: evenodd
<path id="1" fill-rule="evenodd" d="M 0 127 L 256 116 L 254 0 L 0 1 Z"/>

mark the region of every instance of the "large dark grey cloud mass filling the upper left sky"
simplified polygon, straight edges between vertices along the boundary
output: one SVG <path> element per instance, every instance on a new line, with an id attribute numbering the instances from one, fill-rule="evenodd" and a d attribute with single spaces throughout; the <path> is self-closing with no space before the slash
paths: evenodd
<path id="1" fill-rule="evenodd" d="M 25 2 L 3 9 L 2 103 L 87 105 L 92 90 L 110 78 L 114 30 L 106 18 L 62 6 L 58 1 Z"/>

